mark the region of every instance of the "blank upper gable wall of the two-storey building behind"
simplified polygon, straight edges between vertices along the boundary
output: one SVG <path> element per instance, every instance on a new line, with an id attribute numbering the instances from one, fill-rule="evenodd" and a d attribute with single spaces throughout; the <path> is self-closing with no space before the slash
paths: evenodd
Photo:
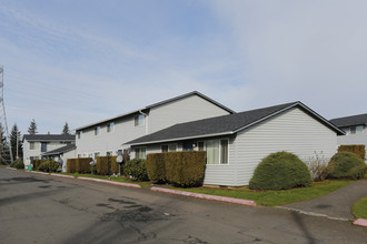
<path id="1" fill-rule="evenodd" d="M 201 120 L 229 114 L 226 110 L 191 95 L 162 106 L 153 108 L 149 113 L 149 133 L 162 130 L 177 123 Z"/>

